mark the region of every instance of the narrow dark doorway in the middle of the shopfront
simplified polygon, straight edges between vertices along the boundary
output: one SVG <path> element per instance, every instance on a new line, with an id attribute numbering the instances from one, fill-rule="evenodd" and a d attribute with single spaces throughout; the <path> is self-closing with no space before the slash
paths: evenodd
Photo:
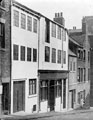
<path id="1" fill-rule="evenodd" d="M 55 89 L 54 89 L 54 81 L 50 81 L 50 111 L 54 110 L 55 106 Z"/>

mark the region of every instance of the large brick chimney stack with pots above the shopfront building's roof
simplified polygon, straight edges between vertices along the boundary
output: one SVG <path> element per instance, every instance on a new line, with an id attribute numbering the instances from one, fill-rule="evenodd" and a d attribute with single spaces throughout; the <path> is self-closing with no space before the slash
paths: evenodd
<path id="1" fill-rule="evenodd" d="M 65 20 L 63 18 L 63 13 L 55 13 L 55 18 L 53 19 L 55 22 L 59 23 L 60 25 L 65 26 Z"/>

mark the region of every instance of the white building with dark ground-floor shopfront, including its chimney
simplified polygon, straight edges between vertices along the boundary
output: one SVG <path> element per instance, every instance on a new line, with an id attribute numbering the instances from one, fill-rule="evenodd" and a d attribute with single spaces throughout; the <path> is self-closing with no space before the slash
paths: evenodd
<path id="1" fill-rule="evenodd" d="M 42 16 L 39 42 L 40 112 L 64 111 L 68 104 L 68 33 L 62 13 Z"/>

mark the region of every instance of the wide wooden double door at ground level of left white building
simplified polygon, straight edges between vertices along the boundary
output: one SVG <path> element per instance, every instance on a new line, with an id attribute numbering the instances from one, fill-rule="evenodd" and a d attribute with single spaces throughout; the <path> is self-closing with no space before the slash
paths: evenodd
<path id="1" fill-rule="evenodd" d="M 25 110 L 25 81 L 15 81 L 13 91 L 13 111 Z"/>

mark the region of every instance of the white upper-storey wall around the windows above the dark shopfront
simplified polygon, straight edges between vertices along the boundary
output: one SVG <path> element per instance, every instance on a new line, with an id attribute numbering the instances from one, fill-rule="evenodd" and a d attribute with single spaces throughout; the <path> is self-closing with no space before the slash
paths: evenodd
<path id="1" fill-rule="evenodd" d="M 39 69 L 43 70 L 68 70 L 68 35 L 66 32 L 66 41 L 51 37 L 51 26 L 50 22 L 50 43 L 45 42 L 45 18 L 40 19 L 40 44 L 39 44 Z M 57 25 L 56 25 L 57 28 Z M 57 31 L 56 31 L 57 33 Z M 63 42 L 63 45 L 62 45 Z M 50 62 L 45 62 L 45 46 L 50 47 Z M 56 63 L 51 62 L 52 48 L 56 49 Z M 66 51 L 66 64 L 57 63 L 57 50 Z M 63 58 L 63 56 L 62 56 Z"/>

